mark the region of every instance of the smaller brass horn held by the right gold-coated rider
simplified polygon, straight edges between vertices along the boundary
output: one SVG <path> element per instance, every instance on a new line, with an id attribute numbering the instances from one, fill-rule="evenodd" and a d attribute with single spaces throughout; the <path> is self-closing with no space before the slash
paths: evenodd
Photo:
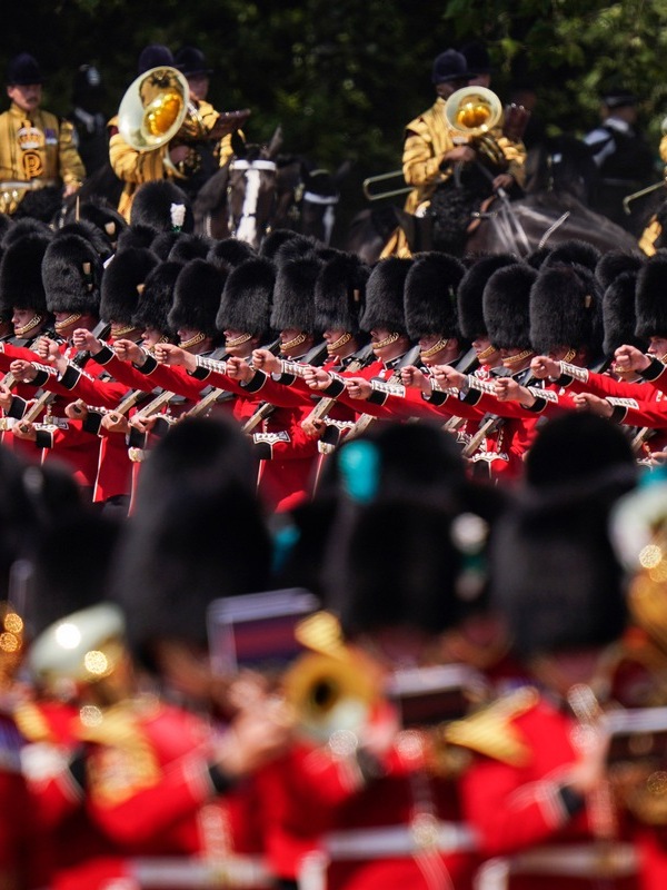
<path id="1" fill-rule="evenodd" d="M 486 87 L 462 87 L 445 103 L 445 119 L 454 142 L 471 145 L 495 166 L 506 166 L 502 151 L 489 136 L 501 118 L 500 99 Z"/>

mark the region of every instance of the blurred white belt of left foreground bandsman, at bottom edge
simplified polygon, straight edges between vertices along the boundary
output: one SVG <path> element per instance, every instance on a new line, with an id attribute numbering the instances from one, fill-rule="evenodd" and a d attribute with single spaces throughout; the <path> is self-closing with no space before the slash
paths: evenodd
<path id="1" fill-rule="evenodd" d="M 131 874 L 143 890 L 207 890 L 208 888 L 271 888 L 272 876 L 260 857 L 230 856 L 220 861 L 165 857 L 132 859 Z"/>

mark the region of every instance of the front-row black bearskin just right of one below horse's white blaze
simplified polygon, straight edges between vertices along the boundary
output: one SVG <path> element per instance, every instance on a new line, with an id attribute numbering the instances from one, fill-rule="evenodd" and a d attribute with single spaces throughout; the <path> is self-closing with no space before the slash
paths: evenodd
<path id="1" fill-rule="evenodd" d="M 315 333 L 315 285 L 321 264 L 315 257 L 282 263 L 276 275 L 271 328 Z"/>

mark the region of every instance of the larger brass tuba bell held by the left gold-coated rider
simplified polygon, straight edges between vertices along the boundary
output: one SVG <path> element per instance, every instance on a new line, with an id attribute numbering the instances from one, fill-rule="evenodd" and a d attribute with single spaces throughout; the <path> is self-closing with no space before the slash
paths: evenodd
<path id="1" fill-rule="evenodd" d="M 152 151 L 186 126 L 193 109 L 188 81 L 176 68 L 151 68 L 126 90 L 118 109 L 118 130 L 137 151 Z"/>

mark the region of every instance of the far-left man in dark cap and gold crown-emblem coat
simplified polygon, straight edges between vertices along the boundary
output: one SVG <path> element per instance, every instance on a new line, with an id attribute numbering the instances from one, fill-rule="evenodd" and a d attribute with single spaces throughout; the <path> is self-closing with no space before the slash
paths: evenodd
<path id="1" fill-rule="evenodd" d="M 0 211 L 50 221 L 86 176 L 72 125 L 40 108 L 44 78 L 27 52 L 7 70 L 8 111 L 0 115 Z M 26 184 L 26 185 L 20 185 Z M 48 189 L 44 195 L 36 194 Z"/>

